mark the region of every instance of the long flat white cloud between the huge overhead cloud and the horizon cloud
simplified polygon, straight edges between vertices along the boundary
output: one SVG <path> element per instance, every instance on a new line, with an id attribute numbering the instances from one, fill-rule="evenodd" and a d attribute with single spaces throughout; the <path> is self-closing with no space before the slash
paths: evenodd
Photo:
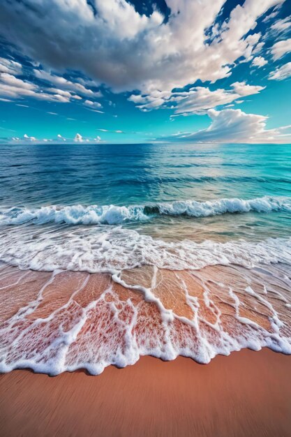
<path id="1" fill-rule="evenodd" d="M 238 98 L 258 94 L 264 87 L 249 85 L 246 82 L 234 82 L 231 89 L 216 89 L 208 87 L 193 87 L 188 91 L 152 91 L 147 95 L 131 95 L 128 100 L 137 105 L 140 110 L 158 108 L 174 109 L 174 114 L 203 114 L 219 105 L 227 105 Z"/>

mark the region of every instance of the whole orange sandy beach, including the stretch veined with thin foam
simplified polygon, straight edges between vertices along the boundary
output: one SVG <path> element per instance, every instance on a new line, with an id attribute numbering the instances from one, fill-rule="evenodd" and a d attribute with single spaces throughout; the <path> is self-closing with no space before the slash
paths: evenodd
<path id="1" fill-rule="evenodd" d="M 1 436 L 290 436 L 290 355 L 219 355 L 239 341 L 288 345 L 284 265 L 156 271 L 151 302 L 106 274 L 1 267 Z M 152 277 L 144 268 L 121 280 L 149 290 Z M 174 347 L 197 360 L 218 355 L 173 360 Z M 172 361 L 134 355 L 151 350 Z"/>

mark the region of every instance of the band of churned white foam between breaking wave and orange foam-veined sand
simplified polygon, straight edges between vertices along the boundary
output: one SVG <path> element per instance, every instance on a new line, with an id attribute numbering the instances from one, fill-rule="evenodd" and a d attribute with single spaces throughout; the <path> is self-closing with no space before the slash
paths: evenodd
<path id="1" fill-rule="evenodd" d="M 26 232 L 24 232 L 26 231 Z M 161 269 L 200 269 L 207 265 L 291 264 L 291 238 L 262 242 L 191 240 L 164 242 L 121 226 L 87 232 L 77 228 L 48 230 L 10 228 L 0 238 L 0 260 L 22 269 L 119 272 L 142 265 Z"/>

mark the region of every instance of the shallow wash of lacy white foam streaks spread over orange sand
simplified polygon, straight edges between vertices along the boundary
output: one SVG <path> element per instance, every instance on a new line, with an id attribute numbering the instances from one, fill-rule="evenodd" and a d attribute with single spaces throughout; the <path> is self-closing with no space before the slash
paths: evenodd
<path id="1" fill-rule="evenodd" d="M 141 356 L 209 363 L 250 348 L 291 355 L 289 266 L 0 271 L 0 370 L 99 374 Z M 137 290 L 137 284 L 146 292 Z"/>

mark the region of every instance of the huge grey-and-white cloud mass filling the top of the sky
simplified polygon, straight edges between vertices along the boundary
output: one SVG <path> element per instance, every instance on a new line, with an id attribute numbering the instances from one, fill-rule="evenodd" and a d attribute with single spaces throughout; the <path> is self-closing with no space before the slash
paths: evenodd
<path id="1" fill-rule="evenodd" d="M 165 2 L 167 20 L 158 10 L 137 13 L 126 0 L 95 0 L 96 13 L 87 0 L 2 0 L 1 34 L 47 68 L 79 70 L 114 91 L 149 94 L 229 76 L 234 62 L 249 59 L 258 45 L 258 18 L 283 0 L 245 0 L 219 27 L 225 0 Z"/>

